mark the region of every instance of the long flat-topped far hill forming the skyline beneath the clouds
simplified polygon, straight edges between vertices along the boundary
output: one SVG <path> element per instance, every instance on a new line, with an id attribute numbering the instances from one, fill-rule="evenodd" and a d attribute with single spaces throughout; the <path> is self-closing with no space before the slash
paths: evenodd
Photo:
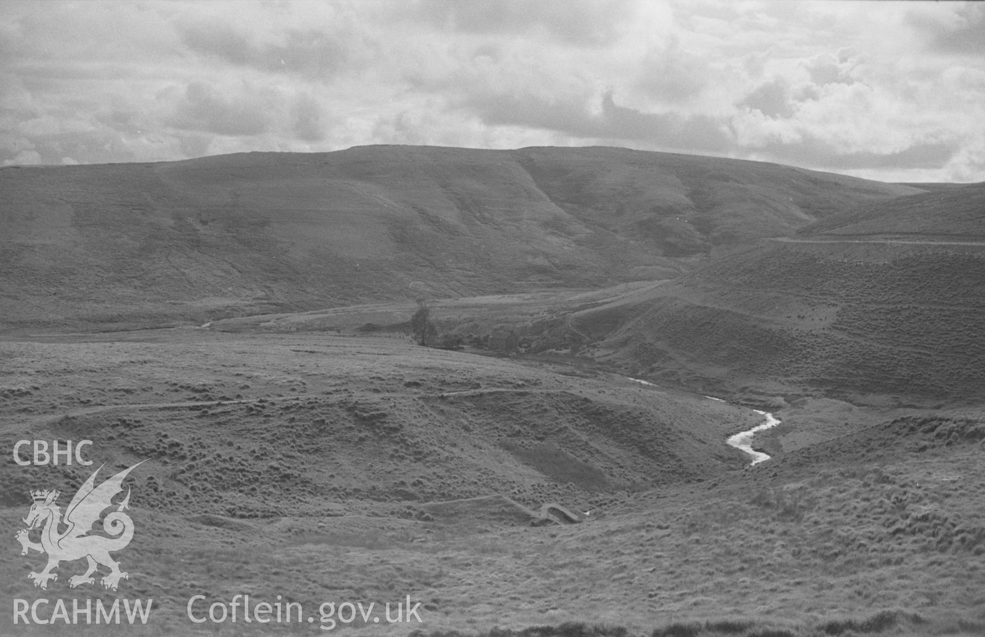
<path id="1" fill-rule="evenodd" d="M 624 149 L 364 147 L 0 169 L 0 325 L 160 325 L 688 271 L 921 192 Z"/>

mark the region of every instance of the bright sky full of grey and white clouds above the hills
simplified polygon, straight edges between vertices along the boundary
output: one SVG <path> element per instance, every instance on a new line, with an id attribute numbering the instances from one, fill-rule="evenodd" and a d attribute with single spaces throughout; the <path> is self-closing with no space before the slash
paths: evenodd
<path id="1" fill-rule="evenodd" d="M 0 2 L 0 164 L 622 146 L 985 181 L 985 5 Z"/>

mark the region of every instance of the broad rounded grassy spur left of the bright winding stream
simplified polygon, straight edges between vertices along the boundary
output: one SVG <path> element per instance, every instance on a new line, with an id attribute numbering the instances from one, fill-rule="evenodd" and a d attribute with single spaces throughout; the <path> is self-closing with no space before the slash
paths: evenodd
<path id="1" fill-rule="evenodd" d="M 399 515 L 408 503 L 493 493 L 590 507 L 741 468 L 743 454 L 720 441 L 758 420 L 627 380 L 404 339 L 190 329 L 78 341 L 2 345 L 4 444 L 25 431 L 84 434 L 100 441 L 102 460 L 153 459 L 144 475 L 155 473 L 157 488 L 144 497 L 162 510 L 301 515 L 330 497 Z M 18 497 L 29 478 L 6 474 L 0 491 Z"/>

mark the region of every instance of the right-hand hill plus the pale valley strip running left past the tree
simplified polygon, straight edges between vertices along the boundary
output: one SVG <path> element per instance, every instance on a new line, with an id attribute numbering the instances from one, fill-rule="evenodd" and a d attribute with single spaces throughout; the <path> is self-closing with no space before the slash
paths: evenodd
<path id="1" fill-rule="evenodd" d="M 673 280 L 443 299 L 439 330 L 508 327 L 566 352 L 716 396 L 976 401 L 985 387 L 985 187 L 847 209 L 790 236 L 722 247 Z M 230 319 L 229 331 L 406 330 L 413 302 Z"/>

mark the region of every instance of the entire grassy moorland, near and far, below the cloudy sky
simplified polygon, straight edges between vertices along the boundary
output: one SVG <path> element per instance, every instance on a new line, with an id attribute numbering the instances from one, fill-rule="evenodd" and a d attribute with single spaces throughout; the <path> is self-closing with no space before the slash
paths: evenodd
<path id="1" fill-rule="evenodd" d="M 408 147 L 0 179 L 0 319 L 34 332 L 0 331 L 0 444 L 94 462 L 8 457 L 4 528 L 29 489 L 146 461 L 119 591 L 70 589 L 80 560 L 35 589 L 11 539 L 12 599 L 153 598 L 148 635 L 405 596 L 431 637 L 985 630 L 973 186 Z M 466 350 L 412 344 L 419 295 Z M 525 352 L 482 350 L 493 328 Z M 782 420 L 755 466 L 726 443 L 751 404 Z M 311 619 L 189 622 L 244 593 Z"/>

